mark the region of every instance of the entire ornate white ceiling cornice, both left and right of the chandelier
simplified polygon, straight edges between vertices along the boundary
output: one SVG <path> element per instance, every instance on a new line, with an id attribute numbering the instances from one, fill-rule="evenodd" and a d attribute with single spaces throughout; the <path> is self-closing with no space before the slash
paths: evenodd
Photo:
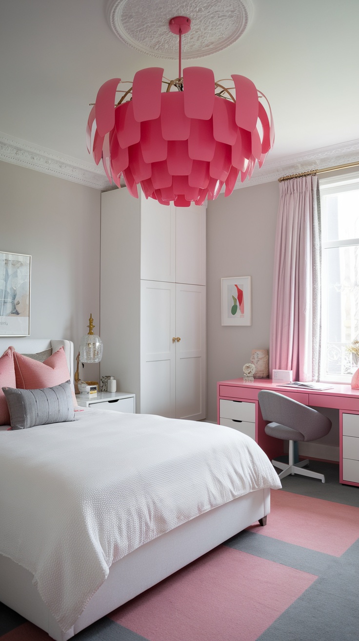
<path id="1" fill-rule="evenodd" d="M 51 176 L 64 178 L 101 191 L 113 188 L 109 185 L 101 166 L 97 167 L 94 163 L 81 162 L 76 158 L 55 153 L 51 149 L 30 144 L 25 140 L 11 138 L 1 132 L 0 160 L 29 167 L 29 169 L 35 169 L 35 171 L 51 174 Z M 261 183 L 273 182 L 288 174 L 299 174 L 310 169 L 319 170 L 358 161 L 359 140 L 312 149 L 295 156 L 286 156 L 272 161 L 269 154 L 263 167 L 256 169 L 250 180 L 247 179 L 244 183 L 237 182 L 235 188 L 252 187 Z"/>

